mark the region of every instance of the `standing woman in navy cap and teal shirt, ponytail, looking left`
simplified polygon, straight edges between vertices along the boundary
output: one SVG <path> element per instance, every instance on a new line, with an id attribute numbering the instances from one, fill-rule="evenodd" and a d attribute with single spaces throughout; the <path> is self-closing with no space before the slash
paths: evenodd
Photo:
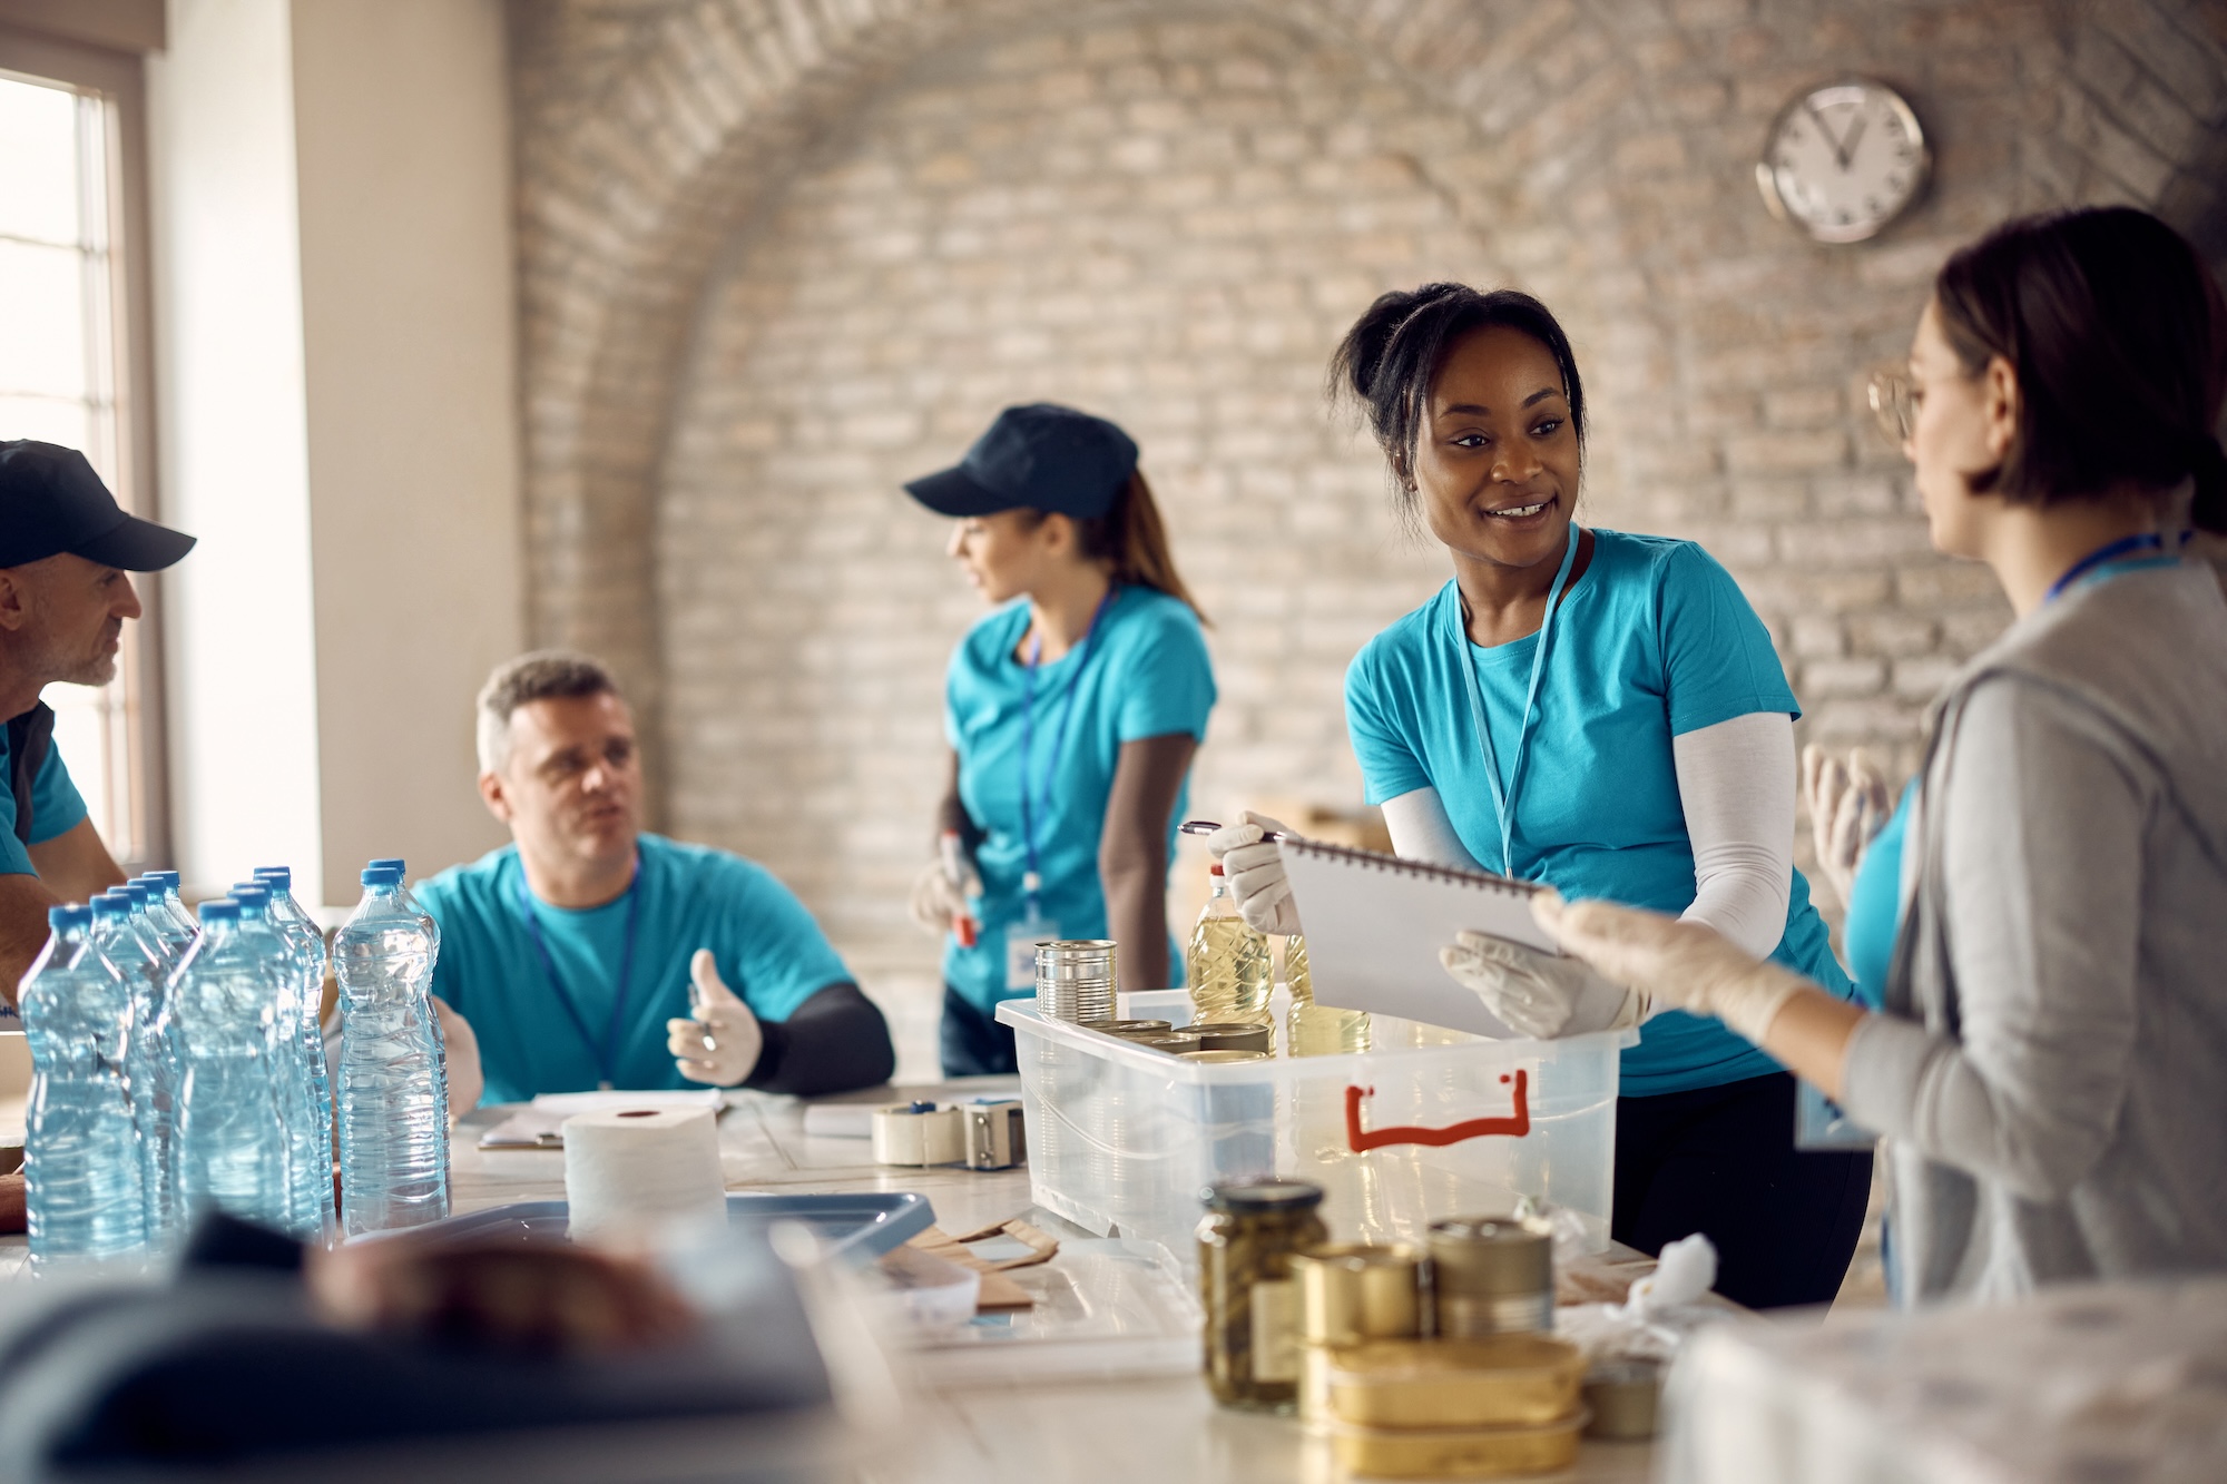
<path id="1" fill-rule="evenodd" d="M 1180 983 L 1167 867 L 1214 666 L 1136 443 L 1102 417 L 1007 408 L 904 488 L 958 519 L 951 555 L 998 604 L 944 677 L 949 787 L 913 918 L 946 936 L 944 1074 L 1013 1072 L 995 1007 L 1036 992 L 1038 940 L 1111 938 L 1122 989 Z"/>

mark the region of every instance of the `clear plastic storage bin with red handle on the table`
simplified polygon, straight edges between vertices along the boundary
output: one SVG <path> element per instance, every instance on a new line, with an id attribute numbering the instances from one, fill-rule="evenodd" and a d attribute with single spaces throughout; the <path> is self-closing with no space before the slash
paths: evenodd
<path id="1" fill-rule="evenodd" d="M 1191 1009 L 1180 989 L 1122 1005 L 1176 1025 Z M 1379 1018 L 1365 1054 L 1203 1065 L 1040 1018 L 1027 998 L 998 1018 L 1018 1036 L 1036 1201 L 1160 1243 L 1185 1270 L 1200 1190 L 1254 1174 L 1318 1183 L 1338 1241 L 1421 1243 L 1441 1217 L 1541 1197 L 1608 1246 L 1617 1052 L 1632 1032 L 1488 1041 Z"/>

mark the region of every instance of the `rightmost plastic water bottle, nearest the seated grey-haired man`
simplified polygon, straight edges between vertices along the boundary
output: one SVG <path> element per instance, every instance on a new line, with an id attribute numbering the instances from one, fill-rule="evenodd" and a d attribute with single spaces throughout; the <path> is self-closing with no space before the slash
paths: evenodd
<path id="1" fill-rule="evenodd" d="M 334 936 L 341 980 L 341 1226 L 350 1237 L 448 1214 L 448 1099 L 428 985 L 432 938 L 401 900 L 401 871 L 363 869 L 363 900 Z"/>

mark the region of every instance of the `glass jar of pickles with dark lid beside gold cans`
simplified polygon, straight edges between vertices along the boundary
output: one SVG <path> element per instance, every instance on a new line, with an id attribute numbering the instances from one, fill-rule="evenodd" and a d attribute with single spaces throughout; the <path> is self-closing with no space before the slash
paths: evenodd
<path id="1" fill-rule="evenodd" d="M 1292 1254 L 1330 1239 L 1305 1181 L 1207 1190 L 1198 1223 L 1198 1297 L 1207 1310 L 1207 1390 L 1223 1406 L 1287 1413 L 1298 1404 L 1298 1295 Z"/>

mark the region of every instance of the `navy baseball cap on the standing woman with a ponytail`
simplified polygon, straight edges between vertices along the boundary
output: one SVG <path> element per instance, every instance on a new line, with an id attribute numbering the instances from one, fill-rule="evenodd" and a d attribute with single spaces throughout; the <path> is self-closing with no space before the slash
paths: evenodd
<path id="1" fill-rule="evenodd" d="M 938 515 L 1051 510 L 1098 519 L 1136 472 L 1136 439 L 1102 417 L 1049 401 L 1007 408 L 958 468 L 904 492 Z"/>

